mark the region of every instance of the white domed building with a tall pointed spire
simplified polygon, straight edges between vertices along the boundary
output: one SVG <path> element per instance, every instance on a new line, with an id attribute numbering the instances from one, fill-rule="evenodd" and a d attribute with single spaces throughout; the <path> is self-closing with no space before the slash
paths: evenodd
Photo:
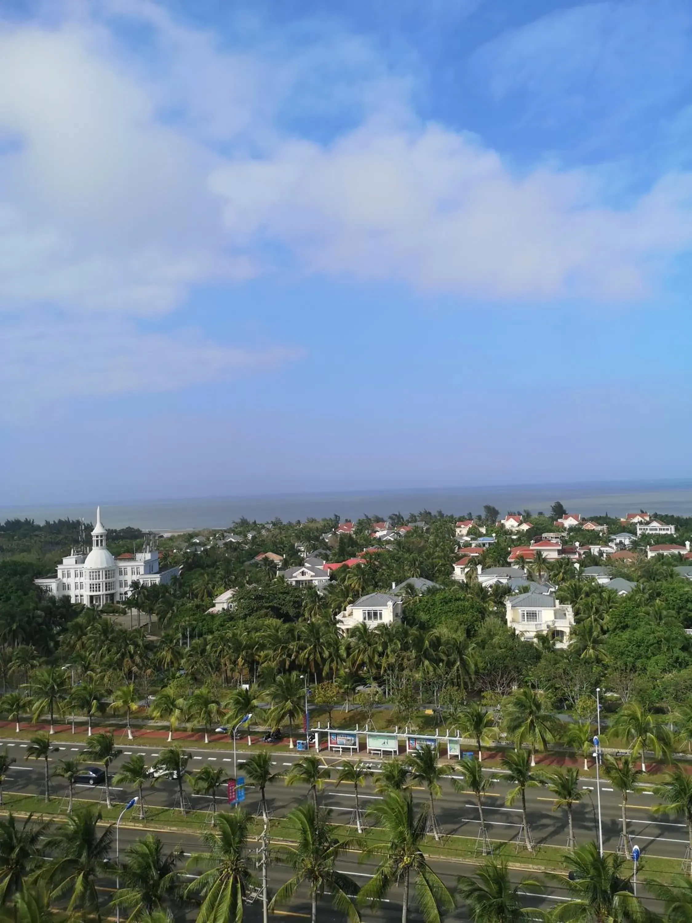
<path id="1" fill-rule="evenodd" d="M 69 596 L 72 603 L 100 609 L 108 603 L 124 603 L 134 582 L 142 586 L 170 583 L 180 573 L 177 567 L 160 571 L 159 552 L 150 548 L 113 557 L 106 547 L 106 534 L 98 507 L 89 554 L 85 557 L 73 549 L 58 565 L 55 577 L 42 577 L 35 583 L 44 593 Z"/>

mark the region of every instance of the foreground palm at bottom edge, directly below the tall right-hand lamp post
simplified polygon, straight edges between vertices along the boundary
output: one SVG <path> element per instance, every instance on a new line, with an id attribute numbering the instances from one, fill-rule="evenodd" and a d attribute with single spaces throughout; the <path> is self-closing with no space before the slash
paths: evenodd
<path id="1" fill-rule="evenodd" d="M 552 911 L 555 920 L 593 920 L 594 923 L 630 923 L 644 919 L 645 912 L 632 893 L 629 879 L 620 874 L 624 856 L 605 853 L 591 842 L 565 857 L 568 878 L 560 876 L 572 900 Z"/>

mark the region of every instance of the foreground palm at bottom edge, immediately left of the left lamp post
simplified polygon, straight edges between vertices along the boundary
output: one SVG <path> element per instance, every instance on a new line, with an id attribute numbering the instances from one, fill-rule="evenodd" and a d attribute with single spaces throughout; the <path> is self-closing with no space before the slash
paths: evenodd
<path id="1" fill-rule="evenodd" d="M 54 855 L 46 870 L 53 895 L 69 893 L 68 914 L 81 912 L 82 917 L 93 915 L 98 921 L 101 907 L 96 882 L 108 871 L 113 840 L 113 824 L 99 833 L 101 818 L 101 809 L 79 807 L 46 842 Z"/>

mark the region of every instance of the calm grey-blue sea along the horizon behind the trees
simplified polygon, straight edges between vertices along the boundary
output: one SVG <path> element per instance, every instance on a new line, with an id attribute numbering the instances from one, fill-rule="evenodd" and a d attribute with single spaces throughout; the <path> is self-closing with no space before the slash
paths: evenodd
<path id="1" fill-rule="evenodd" d="M 386 518 L 390 513 L 404 516 L 421 509 L 463 515 L 482 512 L 492 504 L 501 514 L 507 509 L 548 512 L 561 500 L 570 512 L 586 515 L 610 513 L 624 515 L 638 509 L 650 513 L 692 515 L 692 481 L 642 483 L 603 483 L 565 485 L 515 485 L 487 487 L 419 488 L 412 490 L 374 490 L 370 492 L 325 494 L 278 494 L 264 497 L 199 497 L 197 499 L 158 500 L 141 503 L 63 503 L 0 507 L 0 521 L 28 517 L 37 522 L 83 516 L 94 521 L 96 503 L 101 503 L 101 519 L 107 528 L 127 525 L 142 529 L 223 529 L 241 516 L 259 522 L 271 519 L 305 520 L 338 513 L 342 520 L 365 514 Z"/>

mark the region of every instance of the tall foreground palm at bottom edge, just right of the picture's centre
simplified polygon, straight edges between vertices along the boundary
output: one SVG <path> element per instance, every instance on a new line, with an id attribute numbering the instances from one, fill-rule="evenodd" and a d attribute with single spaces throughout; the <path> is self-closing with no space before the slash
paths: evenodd
<path id="1" fill-rule="evenodd" d="M 413 884 L 424 923 L 440 923 L 440 911 L 451 910 L 454 900 L 423 853 L 427 806 L 416 817 L 410 792 L 389 792 L 367 813 L 384 827 L 387 842 L 369 845 L 364 851 L 365 856 L 382 858 L 375 875 L 364 885 L 360 901 L 378 905 L 393 884 L 402 883 L 401 923 L 406 923 Z"/>

